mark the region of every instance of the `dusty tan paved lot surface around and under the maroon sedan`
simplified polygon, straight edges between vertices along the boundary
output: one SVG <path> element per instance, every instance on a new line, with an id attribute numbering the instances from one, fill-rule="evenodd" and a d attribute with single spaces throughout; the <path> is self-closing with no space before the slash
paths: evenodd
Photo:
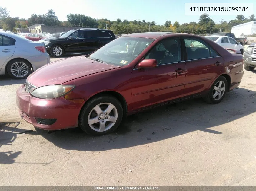
<path id="1" fill-rule="evenodd" d="M 158 107 L 101 137 L 23 121 L 24 82 L 0 77 L 0 185 L 256 185 L 256 70 L 217 105 Z"/>

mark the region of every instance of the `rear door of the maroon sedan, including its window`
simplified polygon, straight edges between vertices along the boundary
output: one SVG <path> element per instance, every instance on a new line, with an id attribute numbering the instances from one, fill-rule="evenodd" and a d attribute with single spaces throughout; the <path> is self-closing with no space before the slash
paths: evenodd
<path id="1" fill-rule="evenodd" d="M 183 37 L 184 43 L 193 42 L 186 47 L 186 81 L 184 96 L 201 94 L 223 67 L 223 59 L 207 43 L 198 38 Z"/>

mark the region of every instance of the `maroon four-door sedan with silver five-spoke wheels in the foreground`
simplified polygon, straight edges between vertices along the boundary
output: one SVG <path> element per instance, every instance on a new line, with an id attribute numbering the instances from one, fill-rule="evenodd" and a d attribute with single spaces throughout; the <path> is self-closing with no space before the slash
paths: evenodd
<path id="1" fill-rule="evenodd" d="M 193 47 L 191 46 L 193 42 Z M 182 33 L 119 37 L 89 56 L 49 63 L 17 90 L 20 116 L 46 130 L 115 130 L 123 117 L 194 97 L 219 103 L 243 77 L 243 56 Z"/>

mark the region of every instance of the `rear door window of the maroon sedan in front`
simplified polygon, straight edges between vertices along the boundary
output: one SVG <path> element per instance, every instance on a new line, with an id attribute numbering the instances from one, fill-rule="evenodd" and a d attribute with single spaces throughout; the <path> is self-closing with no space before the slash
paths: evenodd
<path id="1" fill-rule="evenodd" d="M 194 38 L 185 38 L 187 60 L 209 58 L 219 56 L 208 44 L 203 40 Z M 190 44 L 188 47 L 187 44 Z"/>

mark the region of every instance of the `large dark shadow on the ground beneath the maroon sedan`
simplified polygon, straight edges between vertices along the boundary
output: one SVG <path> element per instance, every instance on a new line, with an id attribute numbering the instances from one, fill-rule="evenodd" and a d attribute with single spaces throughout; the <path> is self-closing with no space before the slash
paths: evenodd
<path id="1" fill-rule="evenodd" d="M 157 107 L 128 116 L 113 133 L 93 137 L 79 128 L 54 131 L 36 129 L 54 145 L 66 150 L 105 151 L 144 145 L 198 131 L 222 134 L 209 129 L 229 123 L 256 111 L 256 92 L 235 88 L 219 104 L 208 104 L 202 99 Z"/>

